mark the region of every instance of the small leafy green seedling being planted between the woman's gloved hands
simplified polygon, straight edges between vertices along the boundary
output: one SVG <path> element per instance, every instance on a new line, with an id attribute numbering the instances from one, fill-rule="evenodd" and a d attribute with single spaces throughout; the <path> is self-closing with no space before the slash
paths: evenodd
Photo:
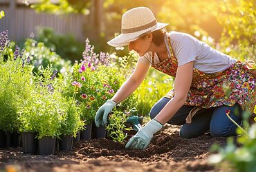
<path id="1" fill-rule="evenodd" d="M 109 124 L 107 125 L 107 133 L 113 141 L 123 142 L 127 137 L 125 134 L 125 122 L 129 117 L 129 113 L 124 113 L 122 111 L 113 111 L 111 116 L 109 116 Z"/>

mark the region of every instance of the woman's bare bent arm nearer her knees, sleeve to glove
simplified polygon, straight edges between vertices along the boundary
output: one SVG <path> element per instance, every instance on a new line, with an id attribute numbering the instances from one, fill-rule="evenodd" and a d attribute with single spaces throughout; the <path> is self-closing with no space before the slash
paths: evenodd
<path id="1" fill-rule="evenodd" d="M 178 67 L 174 81 L 174 98 L 156 116 L 156 120 L 165 124 L 184 105 L 193 77 L 193 61 Z"/>

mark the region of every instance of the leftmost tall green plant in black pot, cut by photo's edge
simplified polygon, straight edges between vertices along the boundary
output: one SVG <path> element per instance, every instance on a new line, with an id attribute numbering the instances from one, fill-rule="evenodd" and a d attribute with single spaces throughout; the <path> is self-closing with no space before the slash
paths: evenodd
<path id="1" fill-rule="evenodd" d="M 9 45 L 7 32 L 1 33 L 0 49 L 0 147 L 17 147 L 19 128 L 18 111 L 30 94 L 31 67 L 16 46 Z M 6 55 L 6 56 L 5 56 Z M 5 56 L 5 60 L 3 60 Z M 26 89 L 24 89 L 26 88 Z"/>

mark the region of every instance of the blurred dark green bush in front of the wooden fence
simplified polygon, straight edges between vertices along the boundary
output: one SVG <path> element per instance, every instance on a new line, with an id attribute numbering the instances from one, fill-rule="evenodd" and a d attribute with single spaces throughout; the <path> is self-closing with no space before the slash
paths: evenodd
<path id="1" fill-rule="evenodd" d="M 55 34 L 52 28 L 40 28 L 37 41 L 44 43 L 52 52 L 66 60 L 75 61 L 80 58 L 84 50 L 82 43 L 77 41 L 72 34 Z"/>

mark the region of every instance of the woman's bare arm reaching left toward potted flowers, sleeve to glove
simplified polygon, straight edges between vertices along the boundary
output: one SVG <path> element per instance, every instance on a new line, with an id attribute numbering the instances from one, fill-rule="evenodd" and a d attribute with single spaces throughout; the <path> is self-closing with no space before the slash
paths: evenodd
<path id="1" fill-rule="evenodd" d="M 116 103 L 122 102 L 130 94 L 134 92 L 136 88 L 143 82 L 147 71 L 149 70 L 150 64 L 144 64 L 138 61 L 134 72 L 129 76 L 129 78 L 122 84 L 118 92 L 111 98 Z"/>

